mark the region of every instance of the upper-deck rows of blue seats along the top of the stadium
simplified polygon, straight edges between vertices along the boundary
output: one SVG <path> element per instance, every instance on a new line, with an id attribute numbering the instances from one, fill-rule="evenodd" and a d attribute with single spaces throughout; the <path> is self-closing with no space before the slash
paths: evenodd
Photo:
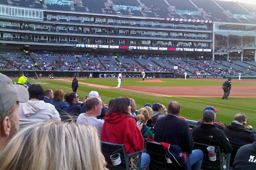
<path id="1" fill-rule="evenodd" d="M 180 0 L 180 1 L 122 1 L 115 0 L 109 4 L 106 0 L 81 0 L 81 5 L 75 6 L 74 9 L 69 5 L 61 4 L 47 4 L 47 10 L 62 10 L 62 11 L 78 11 L 78 12 L 93 12 L 100 14 L 113 14 L 113 15 L 133 15 L 133 16 L 147 16 L 147 17 L 160 17 L 160 18 L 184 18 L 184 19 L 203 19 L 213 20 L 220 22 L 235 22 L 235 23 L 256 23 L 254 18 L 245 18 L 246 15 L 252 15 L 256 12 L 254 5 L 238 2 L 227 1 L 211 1 L 211 0 Z M 1 0 L 1 4 L 9 5 L 7 0 Z M 72 3 L 72 2 L 71 2 Z M 142 7 L 144 6 L 147 7 Z M 42 3 L 38 1 L 28 0 L 12 0 L 11 5 L 43 8 Z M 118 5 L 119 8 L 113 9 L 113 5 Z M 122 8 L 123 6 L 129 6 Z M 132 8 L 133 7 L 133 8 Z M 136 7 L 136 8 L 134 8 Z M 205 11 L 207 15 L 201 16 L 196 12 L 189 14 L 174 14 L 176 11 Z M 232 14 L 238 14 L 237 18 L 232 18 Z M 252 15 L 253 16 L 253 15 Z"/>

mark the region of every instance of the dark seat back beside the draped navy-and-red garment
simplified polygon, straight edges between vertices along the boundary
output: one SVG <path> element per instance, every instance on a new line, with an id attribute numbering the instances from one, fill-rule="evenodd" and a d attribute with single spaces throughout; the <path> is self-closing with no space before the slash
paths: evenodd
<path id="1" fill-rule="evenodd" d="M 150 169 L 182 169 L 176 162 L 167 163 L 166 149 L 160 143 L 147 140 L 147 152 L 150 155 Z"/>

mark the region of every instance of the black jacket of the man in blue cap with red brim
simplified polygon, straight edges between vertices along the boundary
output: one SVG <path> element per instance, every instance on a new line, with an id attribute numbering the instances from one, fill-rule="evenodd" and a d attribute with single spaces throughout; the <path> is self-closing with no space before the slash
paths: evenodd
<path id="1" fill-rule="evenodd" d="M 220 146 L 225 153 L 232 152 L 232 146 L 224 132 L 212 124 L 203 124 L 196 126 L 192 130 L 194 142 L 205 143 L 207 145 Z"/>

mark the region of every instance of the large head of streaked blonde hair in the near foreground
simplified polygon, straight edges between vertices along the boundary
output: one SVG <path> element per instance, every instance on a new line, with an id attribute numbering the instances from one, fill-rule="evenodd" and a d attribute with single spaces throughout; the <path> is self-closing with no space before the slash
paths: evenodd
<path id="1" fill-rule="evenodd" d="M 103 170 L 93 126 L 49 121 L 18 131 L 0 152 L 0 169 Z"/>

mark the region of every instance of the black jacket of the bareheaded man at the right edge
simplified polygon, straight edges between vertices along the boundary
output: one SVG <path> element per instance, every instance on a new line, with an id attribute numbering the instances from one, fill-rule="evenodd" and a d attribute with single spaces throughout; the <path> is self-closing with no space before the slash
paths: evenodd
<path id="1" fill-rule="evenodd" d="M 243 146 L 253 143 L 256 140 L 256 135 L 251 130 L 245 129 L 242 125 L 232 122 L 223 129 L 226 137 L 232 145 Z"/>

